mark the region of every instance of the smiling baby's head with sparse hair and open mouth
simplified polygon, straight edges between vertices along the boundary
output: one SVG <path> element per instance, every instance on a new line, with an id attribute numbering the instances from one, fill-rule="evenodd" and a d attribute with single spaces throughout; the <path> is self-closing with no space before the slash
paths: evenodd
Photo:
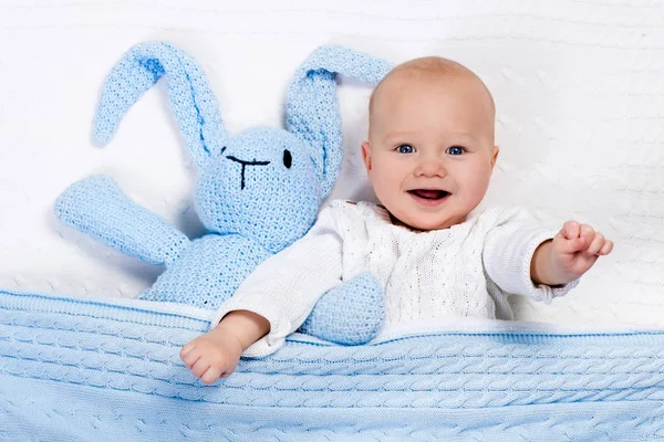
<path id="1" fill-rule="evenodd" d="M 419 230 L 465 221 L 498 156 L 494 98 L 483 81 L 446 59 L 415 59 L 375 87 L 369 113 L 362 156 L 390 213 Z"/>

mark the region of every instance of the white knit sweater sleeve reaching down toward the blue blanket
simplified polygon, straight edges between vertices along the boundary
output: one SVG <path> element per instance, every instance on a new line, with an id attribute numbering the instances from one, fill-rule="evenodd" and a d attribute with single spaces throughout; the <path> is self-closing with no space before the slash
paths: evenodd
<path id="1" fill-rule="evenodd" d="M 270 332 L 242 356 L 270 355 L 304 323 L 319 298 L 341 284 L 341 277 L 342 239 L 334 208 L 326 207 L 303 238 L 256 267 L 234 296 L 221 304 L 211 328 L 232 311 L 257 313 L 269 320 Z"/>

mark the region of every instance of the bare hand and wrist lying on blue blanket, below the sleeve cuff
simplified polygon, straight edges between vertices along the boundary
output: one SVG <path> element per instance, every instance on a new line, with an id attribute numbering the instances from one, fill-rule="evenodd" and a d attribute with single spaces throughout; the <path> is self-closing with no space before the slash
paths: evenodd
<path id="1" fill-rule="evenodd" d="M 264 317 L 234 311 L 212 330 L 185 345 L 180 359 L 203 383 L 212 383 L 235 371 L 242 351 L 270 332 Z"/>

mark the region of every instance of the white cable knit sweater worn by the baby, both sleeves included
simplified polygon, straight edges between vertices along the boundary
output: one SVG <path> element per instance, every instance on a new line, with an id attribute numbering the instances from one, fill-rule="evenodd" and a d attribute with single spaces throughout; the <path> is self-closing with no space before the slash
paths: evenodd
<path id="1" fill-rule="evenodd" d="M 385 293 L 383 330 L 450 316 L 512 319 L 508 294 L 549 303 L 578 284 L 535 286 L 530 278 L 535 250 L 554 234 L 515 207 L 471 212 L 449 229 L 416 232 L 393 224 L 382 206 L 333 201 L 304 238 L 245 280 L 220 306 L 212 327 L 229 312 L 255 312 L 271 329 L 243 356 L 269 355 L 326 291 L 366 272 Z"/>

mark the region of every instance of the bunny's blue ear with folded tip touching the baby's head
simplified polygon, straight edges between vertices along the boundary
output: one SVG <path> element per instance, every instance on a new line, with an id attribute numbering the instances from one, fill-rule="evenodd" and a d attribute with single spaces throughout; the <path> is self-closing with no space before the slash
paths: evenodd
<path id="1" fill-rule="evenodd" d="M 341 115 L 335 75 L 342 74 L 375 86 L 393 65 L 343 46 L 317 49 L 295 72 L 287 98 L 287 127 L 317 150 L 323 198 L 339 175 L 343 156 Z"/>

